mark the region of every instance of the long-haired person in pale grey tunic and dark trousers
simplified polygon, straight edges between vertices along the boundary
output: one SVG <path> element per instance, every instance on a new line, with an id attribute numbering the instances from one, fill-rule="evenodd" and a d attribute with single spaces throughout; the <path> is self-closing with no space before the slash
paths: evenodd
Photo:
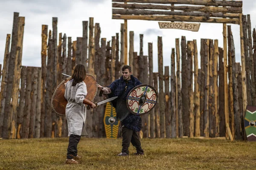
<path id="1" fill-rule="evenodd" d="M 90 105 L 91 108 L 96 107 L 93 102 L 85 99 L 87 95 L 85 77 L 84 65 L 78 64 L 73 71 L 71 79 L 65 85 L 64 97 L 67 99 L 66 118 L 68 136 L 70 136 L 66 164 L 79 163 L 78 160 L 81 159 L 81 156 L 77 155 L 77 144 L 81 139 L 81 135 L 88 135 L 84 126 L 86 119 L 85 105 Z"/>

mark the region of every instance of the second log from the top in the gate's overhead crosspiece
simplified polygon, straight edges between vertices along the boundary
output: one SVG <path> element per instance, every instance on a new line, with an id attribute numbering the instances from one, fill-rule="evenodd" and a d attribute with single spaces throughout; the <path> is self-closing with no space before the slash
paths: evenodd
<path id="1" fill-rule="evenodd" d="M 138 3 L 112 3 L 112 8 L 128 8 L 128 9 L 161 9 L 161 10 L 178 10 L 178 11 L 199 11 L 199 12 L 221 12 L 236 13 L 243 12 L 241 7 L 215 7 L 215 6 L 166 6 L 154 4 L 138 4 Z"/>

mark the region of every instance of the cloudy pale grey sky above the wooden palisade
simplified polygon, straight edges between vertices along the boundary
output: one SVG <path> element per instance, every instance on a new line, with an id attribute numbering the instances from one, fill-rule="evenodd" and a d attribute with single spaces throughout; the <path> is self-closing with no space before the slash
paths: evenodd
<path id="1" fill-rule="evenodd" d="M 22 65 L 41 67 L 41 26 L 52 29 L 52 17 L 58 17 L 58 33 L 67 37 L 82 37 L 82 21 L 94 17 L 101 27 L 101 37 L 111 40 L 120 32 L 123 20 L 112 20 L 111 0 L 0 0 L 0 64 L 6 43 L 6 34 L 12 33 L 13 12 L 25 17 Z M 243 1 L 243 13 L 251 15 L 252 27 L 256 26 L 256 0 Z M 239 25 L 231 26 L 236 48 L 236 61 L 240 62 Z M 140 34 L 144 34 L 143 51 L 148 54 L 148 42 L 153 42 L 154 70 L 157 71 L 157 36 L 163 37 L 163 63 L 170 66 L 171 50 L 175 38 L 186 40 L 218 39 L 223 47 L 222 24 L 201 23 L 198 32 L 160 29 L 157 21 L 128 20 L 128 31 L 134 31 L 134 51 L 140 50 Z M 198 48 L 198 52 L 200 49 Z"/>

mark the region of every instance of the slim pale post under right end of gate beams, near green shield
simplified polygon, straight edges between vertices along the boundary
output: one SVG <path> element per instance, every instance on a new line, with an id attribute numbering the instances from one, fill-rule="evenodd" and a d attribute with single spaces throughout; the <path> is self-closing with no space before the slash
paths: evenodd
<path id="1" fill-rule="evenodd" d="M 240 41 L 241 41 L 241 79 L 242 79 L 242 94 L 243 94 L 243 118 L 247 107 L 247 91 L 246 91 L 246 76 L 245 76 L 245 56 L 244 56 L 244 34 L 242 24 L 242 14 L 240 14 Z M 243 127 L 241 127 L 243 129 Z"/>

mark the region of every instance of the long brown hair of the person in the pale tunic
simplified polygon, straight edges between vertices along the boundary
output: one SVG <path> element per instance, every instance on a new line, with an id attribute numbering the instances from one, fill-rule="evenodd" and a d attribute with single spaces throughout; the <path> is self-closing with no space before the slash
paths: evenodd
<path id="1" fill-rule="evenodd" d="M 75 86 L 77 83 L 84 81 L 85 77 L 86 71 L 84 65 L 77 64 L 71 76 L 71 79 L 73 79 L 72 86 Z"/>

